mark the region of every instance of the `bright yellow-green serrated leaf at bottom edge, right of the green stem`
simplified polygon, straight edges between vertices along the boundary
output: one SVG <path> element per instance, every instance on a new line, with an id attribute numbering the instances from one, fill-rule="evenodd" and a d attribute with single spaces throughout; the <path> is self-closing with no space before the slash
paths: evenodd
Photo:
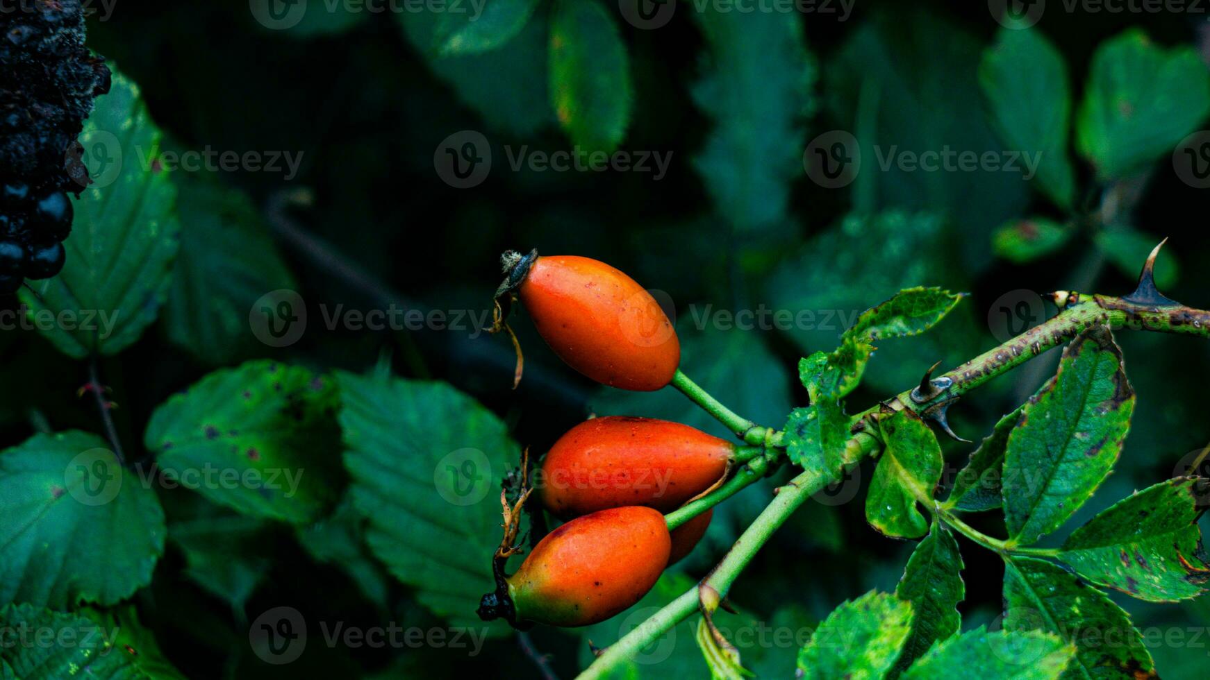
<path id="1" fill-rule="evenodd" d="M 894 595 L 869 593 L 828 615 L 799 652 L 803 679 L 876 680 L 899 658 L 911 633 L 912 608 Z"/>

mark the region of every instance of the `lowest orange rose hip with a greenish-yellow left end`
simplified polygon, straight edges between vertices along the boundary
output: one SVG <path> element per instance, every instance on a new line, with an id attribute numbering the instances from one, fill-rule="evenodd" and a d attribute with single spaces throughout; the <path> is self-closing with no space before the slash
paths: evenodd
<path id="1" fill-rule="evenodd" d="M 672 539 L 650 507 L 577 517 L 538 541 L 508 577 L 517 621 L 589 626 L 628 609 L 656 585 Z"/>

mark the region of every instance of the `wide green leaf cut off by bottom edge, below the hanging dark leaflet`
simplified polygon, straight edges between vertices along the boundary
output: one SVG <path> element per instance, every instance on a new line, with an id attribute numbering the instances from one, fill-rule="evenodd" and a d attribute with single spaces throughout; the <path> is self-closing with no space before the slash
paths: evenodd
<path id="1" fill-rule="evenodd" d="M 934 680 L 976 674 L 980 680 L 1055 680 L 1074 655 L 1076 647 L 1058 635 L 976 628 L 934 646 L 900 678 Z"/>

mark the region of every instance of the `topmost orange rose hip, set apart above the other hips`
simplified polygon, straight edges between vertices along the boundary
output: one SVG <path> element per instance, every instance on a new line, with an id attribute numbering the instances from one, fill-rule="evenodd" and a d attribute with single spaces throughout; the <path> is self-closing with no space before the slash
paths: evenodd
<path id="1" fill-rule="evenodd" d="M 551 349 L 584 376 L 638 391 L 673 379 L 680 365 L 676 330 L 624 273 L 589 257 L 537 257 L 518 292 Z"/>

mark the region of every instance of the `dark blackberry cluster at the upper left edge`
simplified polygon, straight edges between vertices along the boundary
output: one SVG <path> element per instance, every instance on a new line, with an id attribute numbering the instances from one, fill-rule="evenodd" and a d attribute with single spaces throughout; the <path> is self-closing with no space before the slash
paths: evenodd
<path id="1" fill-rule="evenodd" d="M 63 268 L 71 202 L 90 182 L 76 136 L 109 69 L 83 45 L 80 0 L 0 0 L 0 295 Z"/>

